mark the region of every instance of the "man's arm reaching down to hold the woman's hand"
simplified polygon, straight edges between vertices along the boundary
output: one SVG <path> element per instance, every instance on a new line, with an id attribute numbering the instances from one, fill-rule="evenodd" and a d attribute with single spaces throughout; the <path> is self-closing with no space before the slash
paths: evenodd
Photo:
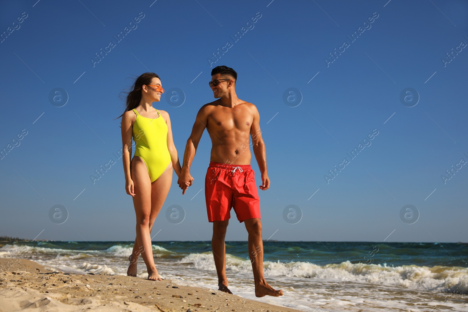
<path id="1" fill-rule="evenodd" d="M 186 182 L 189 182 L 189 186 L 192 185 L 192 177 L 190 175 L 190 166 L 192 160 L 195 157 L 197 152 L 198 143 L 202 137 L 203 131 L 205 131 L 206 125 L 208 124 L 208 113 L 206 109 L 207 105 L 202 106 L 198 111 L 195 118 L 195 123 L 193 123 L 192 133 L 190 134 L 187 144 L 185 145 L 185 152 L 183 154 L 183 165 L 182 172 L 179 178 L 179 187 L 183 189 L 182 194 L 185 193 L 187 186 Z"/>

